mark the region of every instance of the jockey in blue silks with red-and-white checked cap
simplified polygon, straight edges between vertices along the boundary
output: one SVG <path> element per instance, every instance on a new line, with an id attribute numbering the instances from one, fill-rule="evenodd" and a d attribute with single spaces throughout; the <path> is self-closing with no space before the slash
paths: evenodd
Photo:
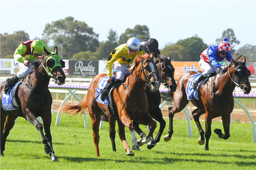
<path id="1" fill-rule="evenodd" d="M 222 66 L 218 62 L 223 61 L 225 58 L 227 61 L 231 62 L 232 56 L 230 53 L 230 44 L 228 43 L 228 39 L 224 38 L 219 44 L 214 44 L 204 50 L 200 57 L 201 60 L 199 61 L 199 67 L 203 70 L 202 74 L 192 84 L 192 88 L 196 91 L 198 83 L 204 80 L 207 75 L 211 74 L 213 71 L 216 71 L 218 68 L 227 70 L 227 66 Z"/>

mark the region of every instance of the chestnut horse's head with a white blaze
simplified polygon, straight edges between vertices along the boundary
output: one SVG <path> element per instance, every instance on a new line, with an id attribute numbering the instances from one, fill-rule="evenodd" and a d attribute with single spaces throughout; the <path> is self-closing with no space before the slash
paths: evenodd
<path id="1" fill-rule="evenodd" d="M 131 67 L 132 72 L 134 68 L 136 68 L 136 77 L 138 79 L 142 78 L 153 91 L 159 89 L 160 82 L 156 73 L 157 65 L 153 61 L 152 54 L 137 55 L 134 58 L 134 66 Z"/>

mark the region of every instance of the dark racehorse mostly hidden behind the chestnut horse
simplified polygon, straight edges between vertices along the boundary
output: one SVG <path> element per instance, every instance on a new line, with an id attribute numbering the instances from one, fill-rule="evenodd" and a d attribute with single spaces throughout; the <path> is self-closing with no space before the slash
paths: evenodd
<path id="1" fill-rule="evenodd" d="M 175 69 L 171 63 L 171 58 L 170 58 L 170 56 L 166 57 L 164 55 L 161 55 L 161 56 L 158 56 L 158 58 L 156 60 L 154 60 L 154 62 L 157 65 L 157 75 L 159 77 L 159 81 L 161 83 L 163 83 L 164 86 L 167 87 L 167 89 L 169 90 L 165 94 L 165 96 L 170 97 L 170 95 L 173 92 L 175 92 L 176 87 L 177 87 L 175 79 L 173 77 Z M 147 148 L 152 149 L 154 146 L 156 146 L 156 143 L 158 143 L 160 141 L 160 138 L 161 138 L 161 135 L 165 128 L 166 122 L 163 119 L 161 109 L 159 108 L 159 105 L 161 103 L 160 91 L 157 90 L 154 92 L 151 90 L 151 87 L 146 84 L 145 92 L 146 92 L 147 99 L 148 99 L 148 113 L 151 115 L 151 117 L 153 119 L 155 119 L 156 121 L 158 121 L 160 123 L 160 128 L 159 128 L 159 131 L 158 131 L 158 134 L 157 134 L 155 140 L 153 139 L 153 136 L 151 136 L 150 142 L 147 143 Z M 103 117 L 102 119 L 104 121 L 109 122 L 109 125 L 110 125 L 109 135 L 110 135 L 110 139 L 112 142 L 112 149 L 113 149 L 113 151 L 116 151 L 116 144 L 114 141 L 115 136 L 116 136 L 116 132 L 115 132 L 116 120 L 113 118 L 106 118 L 106 117 Z M 146 134 L 139 128 L 139 124 L 135 120 L 133 120 L 133 123 L 135 124 L 135 131 L 141 137 L 140 139 L 137 140 L 137 143 L 139 146 L 142 146 L 144 143 L 142 143 L 141 141 L 143 140 L 143 138 L 146 138 Z M 146 127 L 149 132 L 150 126 L 147 125 Z"/>

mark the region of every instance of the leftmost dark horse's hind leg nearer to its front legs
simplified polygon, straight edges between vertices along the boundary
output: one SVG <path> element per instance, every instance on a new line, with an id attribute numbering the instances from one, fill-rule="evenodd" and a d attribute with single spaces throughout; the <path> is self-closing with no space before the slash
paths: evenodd
<path id="1" fill-rule="evenodd" d="M 15 115 L 8 115 L 6 118 L 6 122 L 5 122 L 5 126 L 4 126 L 4 130 L 3 130 L 3 151 L 5 150 L 5 141 L 7 136 L 10 133 L 10 130 L 13 128 L 14 124 L 15 124 L 15 119 L 18 116 Z"/>

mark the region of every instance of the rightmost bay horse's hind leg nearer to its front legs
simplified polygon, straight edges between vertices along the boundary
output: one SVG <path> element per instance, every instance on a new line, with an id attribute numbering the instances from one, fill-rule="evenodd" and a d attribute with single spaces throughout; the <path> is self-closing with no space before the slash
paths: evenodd
<path id="1" fill-rule="evenodd" d="M 204 114 L 204 112 L 202 110 L 200 110 L 199 108 L 196 108 L 195 110 L 192 111 L 194 121 L 197 124 L 197 128 L 198 128 L 198 131 L 199 131 L 199 134 L 200 134 L 200 137 L 198 139 L 199 145 L 203 145 L 204 142 L 205 142 L 205 140 L 204 140 L 204 130 L 203 130 L 203 128 L 201 126 L 201 123 L 199 121 L 199 118 L 202 114 Z"/>

